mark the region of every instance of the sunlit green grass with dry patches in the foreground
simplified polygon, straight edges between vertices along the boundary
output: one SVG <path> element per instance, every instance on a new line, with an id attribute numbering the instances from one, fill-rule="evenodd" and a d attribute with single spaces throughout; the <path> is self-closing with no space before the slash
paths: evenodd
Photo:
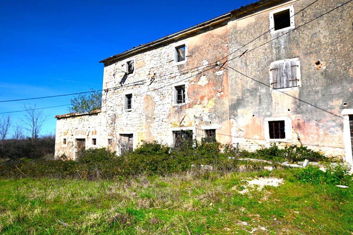
<path id="1" fill-rule="evenodd" d="M 296 170 L 185 172 L 124 180 L 1 179 L 0 234 L 347 234 L 353 193 Z M 284 178 L 241 195 L 256 176 Z"/>

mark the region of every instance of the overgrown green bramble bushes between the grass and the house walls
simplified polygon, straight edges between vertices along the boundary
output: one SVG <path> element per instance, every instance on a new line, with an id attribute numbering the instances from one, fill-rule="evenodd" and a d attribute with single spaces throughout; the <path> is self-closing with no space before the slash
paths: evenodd
<path id="1" fill-rule="evenodd" d="M 311 155 L 310 155 L 311 154 Z M 275 144 L 255 152 L 240 150 L 239 146 L 222 145 L 215 140 L 186 141 L 175 147 L 156 141 L 143 142 L 134 151 L 121 155 L 105 148 L 83 149 L 77 152 L 77 160 L 41 158 L 36 160 L 8 161 L 0 164 L 0 177 L 59 177 L 83 179 L 122 179 L 139 174 L 156 175 L 187 171 L 228 172 L 234 170 L 260 170 L 265 163 L 239 161 L 238 158 L 268 160 L 302 160 L 322 157 L 305 147 L 279 149 Z M 312 158 L 310 158 L 310 156 Z M 320 183 L 321 173 L 315 170 L 301 173 L 306 182 Z M 331 181 L 343 179 L 337 171 L 331 172 Z M 336 180 L 337 181 L 337 180 Z M 336 182 L 335 181 L 335 182 Z"/>

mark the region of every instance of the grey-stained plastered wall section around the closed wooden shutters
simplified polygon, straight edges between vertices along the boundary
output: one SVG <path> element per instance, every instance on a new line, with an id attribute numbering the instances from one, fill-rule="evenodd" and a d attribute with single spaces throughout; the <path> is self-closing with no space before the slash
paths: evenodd
<path id="1" fill-rule="evenodd" d="M 353 104 L 352 4 L 300 26 L 344 2 L 319 1 L 294 16 L 293 32 L 287 33 L 289 29 L 266 33 L 229 57 L 248 50 L 229 61 L 228 66 L 257 80 L 228 67 L 229 84 L 234 88 L 229 94 L 234 144 L 239 142 L 250 149 L 268 146 L 271 141 L 266 139 L 265 118 L 284 116 L 292 122 L 292 136 L 280 145 L 303 144 L 327 155 L 345 155 L 341 111 Z M 270 11 L 293 5 L 296 13 L 311 3 L 282 1 L 229 21 L 229 53 L 269 30 Z M 285 35 L 275 39 L 282 34 Z M 257 46 L 260 47 L 251 50 Z M 284 93 L 268 87 L 271 62 L 295 57 L 300 61 L 301 86 Z M 321 65 L 316 65 L 317 61 Z"/>

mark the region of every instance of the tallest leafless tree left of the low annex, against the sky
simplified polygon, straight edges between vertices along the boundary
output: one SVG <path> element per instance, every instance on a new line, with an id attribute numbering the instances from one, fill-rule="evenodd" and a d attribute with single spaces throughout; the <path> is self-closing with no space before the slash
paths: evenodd
<path id="1" fill-rule="evenodd" d="M 26 115 L 21 120 L 25 123 L 25 128 L 32 134 L 33 141 L 38 138 L 44 122 L 48 120 L 48 116 L 45 116 L 42 110 L 36 109 L 36 105 L 34 107 L 24 105 L 23 109 L 26 111 Z"/>

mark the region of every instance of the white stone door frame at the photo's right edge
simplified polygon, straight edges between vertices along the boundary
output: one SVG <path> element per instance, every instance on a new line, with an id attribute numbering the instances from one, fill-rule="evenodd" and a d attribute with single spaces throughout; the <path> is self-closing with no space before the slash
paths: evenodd
<path id="1" fill-rule="evenodd" d="M 353 115 L 353 109 L 345 108 L 342 110 L 341 114 L 343 115 L 343 144 L 345 146 L 345 159 L 346 162 L 353 167 L 351 129 L 349 127 L 349 115 Z"/>

